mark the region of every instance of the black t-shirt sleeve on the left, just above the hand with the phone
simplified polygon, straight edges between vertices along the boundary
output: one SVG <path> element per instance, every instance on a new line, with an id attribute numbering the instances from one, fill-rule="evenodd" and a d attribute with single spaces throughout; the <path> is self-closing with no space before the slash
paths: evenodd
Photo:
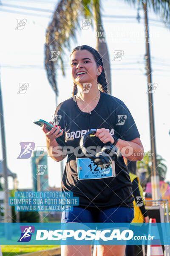
<path id="1" fill-rule="evenodd" d="M 56 138 L 57 143 L 64 147 L 65 144 L 65 112 L 61 109 L 61 104 L 59 104 L 56 108 L 56 111 L 53 115 L 52 123 L 54 125 L 61 126 L 60 129 L 64 129 L 62 136 Z"/>

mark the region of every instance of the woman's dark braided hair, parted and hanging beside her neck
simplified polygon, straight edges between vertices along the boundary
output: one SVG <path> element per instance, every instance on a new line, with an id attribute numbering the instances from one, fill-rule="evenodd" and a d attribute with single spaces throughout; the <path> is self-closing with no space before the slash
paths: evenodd
<path id="1" fill-rule="evenodd" d="M 102 73 L 97 77 L 97 84 L 100 84 L 100 90 L 103 93 L 108 93 L 108 88 L 107 88 L 108 87 L 108 82 L 106 80 L 103 61 L 102 61 L 101 56 L 99 55 L 99 52 L 96 51 L 96 49 L 94 49 L 94 48 L 92 48 L 88 45 L 82 45 L 82 46 L 77 46 L 76 48 L 74 48 L 73 51 L 71 52 L 71 54 L 74 51 L 79 51 L 79 50 L 87 50 L 87 51 L 91 52 L 91 54 L 93 54 L 93 56 L 94 56 L 94 60 L 96 61 L 97 67 L 102 66 Z M 74 83 L 72 96 L 74 96 L 76 93 L 77 93 L 77 84 Z"/>

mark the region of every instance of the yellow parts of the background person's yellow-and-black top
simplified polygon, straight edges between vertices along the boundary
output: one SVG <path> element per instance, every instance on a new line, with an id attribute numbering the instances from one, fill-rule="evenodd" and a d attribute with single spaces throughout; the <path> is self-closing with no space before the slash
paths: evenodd
<path id="1" fill-rule="evenodd" d="M 135 174 L 129 172 L 129 175 L 130 175 L 130 180 L 131 182 L 133 182 L 133 180 L 135 178 L 137 178 L 138 180 L 138 186 L 139 186 L 139 192 L 140 192 L 140 195 L 142 196 L 142 199 L 143 199 L 143 189 L 142 189 L 142 186 L 140 184 L 140 181 L 139 181 L 139 177 L 136 176 Z M 145 204 L 145 201 L 143 199 L 143 202 Z M 133 201 L 133 206 L 134 206 L 134 218 L 133 218 L 133 221 L 131 223 L 143 223 L 144 222 L 144 216 L 139 208 L 139 206 L 136 205 L 136 201 L 134 200 Z"/>

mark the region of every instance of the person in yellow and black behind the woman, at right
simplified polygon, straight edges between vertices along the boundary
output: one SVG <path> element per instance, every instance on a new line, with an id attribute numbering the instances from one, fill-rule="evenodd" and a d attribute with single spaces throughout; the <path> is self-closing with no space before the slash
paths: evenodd
<path id="1" fill-rule="evenodd" d="M 139 177 L 136 175 L 136 161 L 132 162 L 130 160 L 127 160 L 127 158 L 125 157 L 123 158 L 129 171 L 130 180 L 132 182 L 133 197 L 135 199 L 133 201 L 135 217 L 133 218 L 131 223 L 148 223 L 149 216 L 147 215 L 147 211 L 144 207 L 143 189 L 140 184 Z M 126 256 L 135 256 L 136 250 L 138 250 L 138 256 L 143 256 L 142 245 L 126 245 L 125 254 Z"/>

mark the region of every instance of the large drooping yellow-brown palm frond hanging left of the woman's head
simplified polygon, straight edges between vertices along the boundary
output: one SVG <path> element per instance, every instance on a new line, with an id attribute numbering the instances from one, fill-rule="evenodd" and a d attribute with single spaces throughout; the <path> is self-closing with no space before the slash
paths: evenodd
<path id="1" fill-rule="evenodd" d="M 46 30 L 45 41 L 45 70 L 48 81 L 51 84 L 56 96 L 58 96 L 56 72 L 57 67 L 64 72 L 64 48 L 70 49 L 71 38 L 77 41 L 76 30 L 79 26 L 79 16 L 92 18 L 92 3 L 90 0 L 61 0 L 57 4 L 51 23 Z M 93 25 L 92 25 L 93 26 Z M 59 51 L 57 61 L 50 61 L 51 51 Z"/>

